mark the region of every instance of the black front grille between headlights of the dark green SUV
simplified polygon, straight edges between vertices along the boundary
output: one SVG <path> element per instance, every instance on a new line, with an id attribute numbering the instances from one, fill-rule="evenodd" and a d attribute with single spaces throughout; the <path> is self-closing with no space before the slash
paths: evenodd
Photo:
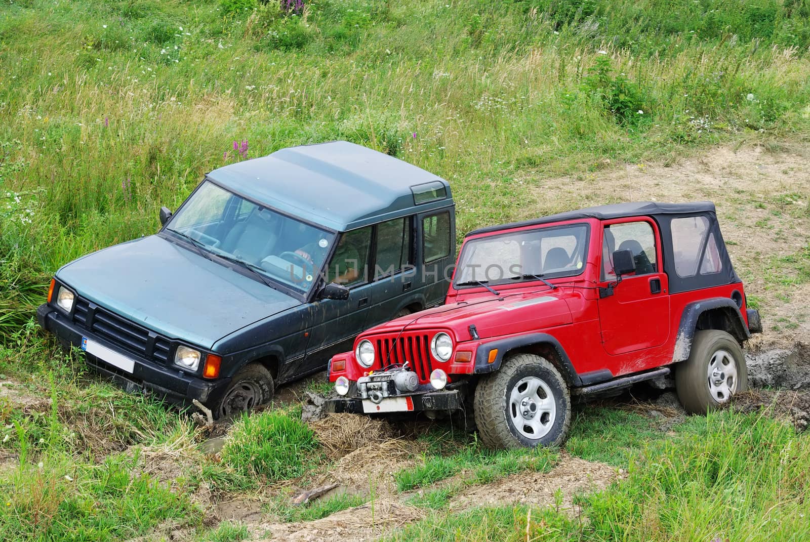
<path id="1" fill-rule="evenodd" d="M 101 339 L 109 340 L 110 343 L 125 350 L 160 364 L 165 365 L 168 362 L 172 350 L 171 341 L 107 309 L 102 309 L 83 297 L 76 298 L 73 321 Z"/>

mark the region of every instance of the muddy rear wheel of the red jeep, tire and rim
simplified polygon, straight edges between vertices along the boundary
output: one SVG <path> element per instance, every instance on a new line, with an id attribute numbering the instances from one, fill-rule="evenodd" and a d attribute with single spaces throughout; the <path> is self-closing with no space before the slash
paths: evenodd
<path id="1" fill-rule="evenodd" d="M 675 367 L 678 399 L 690 414 L 706 414 L 748 389 L 748 368 L 737 339 L 726 331 L 696 331 L 689 359 Z"/>

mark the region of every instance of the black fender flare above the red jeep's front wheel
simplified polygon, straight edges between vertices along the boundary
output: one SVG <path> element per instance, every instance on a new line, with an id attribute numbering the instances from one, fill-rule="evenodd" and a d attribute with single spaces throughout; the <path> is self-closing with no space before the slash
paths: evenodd
<path id="1" fill-rule="evenodd" d="M 495 339 L 481 343 L 478 350 L 475 352 L 475 374 L 494 373 L 501 368 L 501 363 L 504 357 L 509 352 L 520 350 L 521 352 L 536 352 L 542 348 L 550 348 L 556 354 L 556 359 L 551 359 L 557 369 L 560 369 L 562 378 L 568 382 L 569 386 L 582 386 L 582 380 L 579 378 L 576 369 L 565 348 L 562 348 L 560 341 L 548 333 L 530 333 L 528 335 L 520 335 L 519 337 L 509 337 L 506 339 Z M 497 349 L 497 354 L 492 363 L 489 363 L 489 352 Z"/>

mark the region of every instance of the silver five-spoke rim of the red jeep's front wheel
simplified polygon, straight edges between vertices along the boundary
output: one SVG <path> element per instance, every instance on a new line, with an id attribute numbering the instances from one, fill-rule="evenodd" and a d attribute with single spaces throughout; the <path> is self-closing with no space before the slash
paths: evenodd
<path id="1" fill-rule="evenodd" d="M 538 377 L 518 380 L 509 394 L 509 417 L 523 437 L 545 437 L 556 418 L 556 402 L 548 384 Z"/>

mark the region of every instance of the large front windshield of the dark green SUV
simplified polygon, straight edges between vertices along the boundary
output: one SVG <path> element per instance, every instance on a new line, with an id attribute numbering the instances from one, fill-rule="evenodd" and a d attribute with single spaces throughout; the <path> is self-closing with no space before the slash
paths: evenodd
<path id="1" fill-rule="evenodd" d="M 166 229 L 299 292 L 309 290 L 335 240 L 334 233 L 257 205 L 211 181 L 191 194 Z"/>

